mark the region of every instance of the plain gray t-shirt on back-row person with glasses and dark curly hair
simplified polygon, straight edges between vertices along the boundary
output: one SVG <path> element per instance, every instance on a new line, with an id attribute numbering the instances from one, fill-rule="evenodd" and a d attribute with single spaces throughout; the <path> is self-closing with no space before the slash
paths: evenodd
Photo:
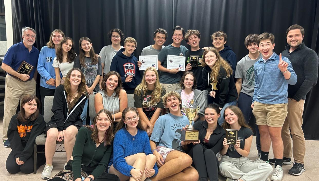
<path id="1" fill-rule="evenodd" d="M 121 48 L 124 48 L 124 46 L 121 46 Z M 120 48 L 120 49 L 121 49 Z M 120 50 L 119 49 L 119 50 Z M 110 66 L 113 57 L 118 52 L 118 50 L 115 50 L 112 45 L 104 46 L 100 51 L 100 57 L 101 57 L 101 63 L 104 64 L 104 71 L 103 73 L 108 73 L 110 71 Z"/>

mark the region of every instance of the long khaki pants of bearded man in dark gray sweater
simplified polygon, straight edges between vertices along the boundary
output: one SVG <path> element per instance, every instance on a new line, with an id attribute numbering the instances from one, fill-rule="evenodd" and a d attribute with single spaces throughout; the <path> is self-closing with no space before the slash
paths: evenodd
<path id="1" fill-rule="evenodd" d="M 281 138 L 284 143 L 284 157 L 291 157 L 291 138 L 293 136 L 293 158 L 295 162 L 303 164 L 306 153 L 305 136 L 303 134 L 302 113 L 305 100 L 296 101 L 288 98 L 288 114 L 281 130 Z M 291 132 L 289 132 L 289 128 Z"/>

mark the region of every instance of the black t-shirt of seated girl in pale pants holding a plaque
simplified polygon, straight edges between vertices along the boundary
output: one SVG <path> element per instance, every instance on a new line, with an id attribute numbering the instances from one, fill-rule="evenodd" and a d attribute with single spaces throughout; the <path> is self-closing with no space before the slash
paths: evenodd
<path id="1" fill-rule="evenodd" d="M 250 136 L 253 135 L 253 132 L 251 129 L 246 128 L 246 127 L 241 127 L 239 131 L 237 132 L 237 140 L 240 140 L 240 148 L 243 149 L 245 146 L 245 139 L 249 138 Z M 241 154 L 239 154 L 236 150 L 234 145 L 229 145 L 228 150 L 225 154 L 228 157 L 232 158 L 240 158 L 242 157 Z"/>

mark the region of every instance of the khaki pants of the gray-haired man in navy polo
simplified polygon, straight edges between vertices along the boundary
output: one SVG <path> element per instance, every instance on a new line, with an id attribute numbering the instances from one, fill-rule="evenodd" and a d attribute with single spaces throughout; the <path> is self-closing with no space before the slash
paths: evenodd
<path id="1" fill-rule="evenodd" d="M 11 117 L 16 114 L 19 100 L 22 101 L 23 97 L 27 94 L 35 95 L 35 87 L 36 82 L 34 79 L 27 82 L 23 82 L 11 77 L 11 75 L 9 74 L 5 76 L 2 140 L 8 139 L 8 126 Z"/>

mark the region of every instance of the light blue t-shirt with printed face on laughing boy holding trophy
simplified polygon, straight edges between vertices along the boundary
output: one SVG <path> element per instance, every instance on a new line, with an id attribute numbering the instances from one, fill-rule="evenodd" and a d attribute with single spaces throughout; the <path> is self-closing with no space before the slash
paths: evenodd
<path id="1" fill-rule="evenodd" d="M 185 115 L 175 116 L 171 113 L 161 115 L 155 122 L 150 140 L 157 142 L 158 146 L 165 146 L 174 150 L 183 151 L 181 147 L 181 130 L 189 124 Z M 194 122 L 192 122 L 192 125 Z"/>

